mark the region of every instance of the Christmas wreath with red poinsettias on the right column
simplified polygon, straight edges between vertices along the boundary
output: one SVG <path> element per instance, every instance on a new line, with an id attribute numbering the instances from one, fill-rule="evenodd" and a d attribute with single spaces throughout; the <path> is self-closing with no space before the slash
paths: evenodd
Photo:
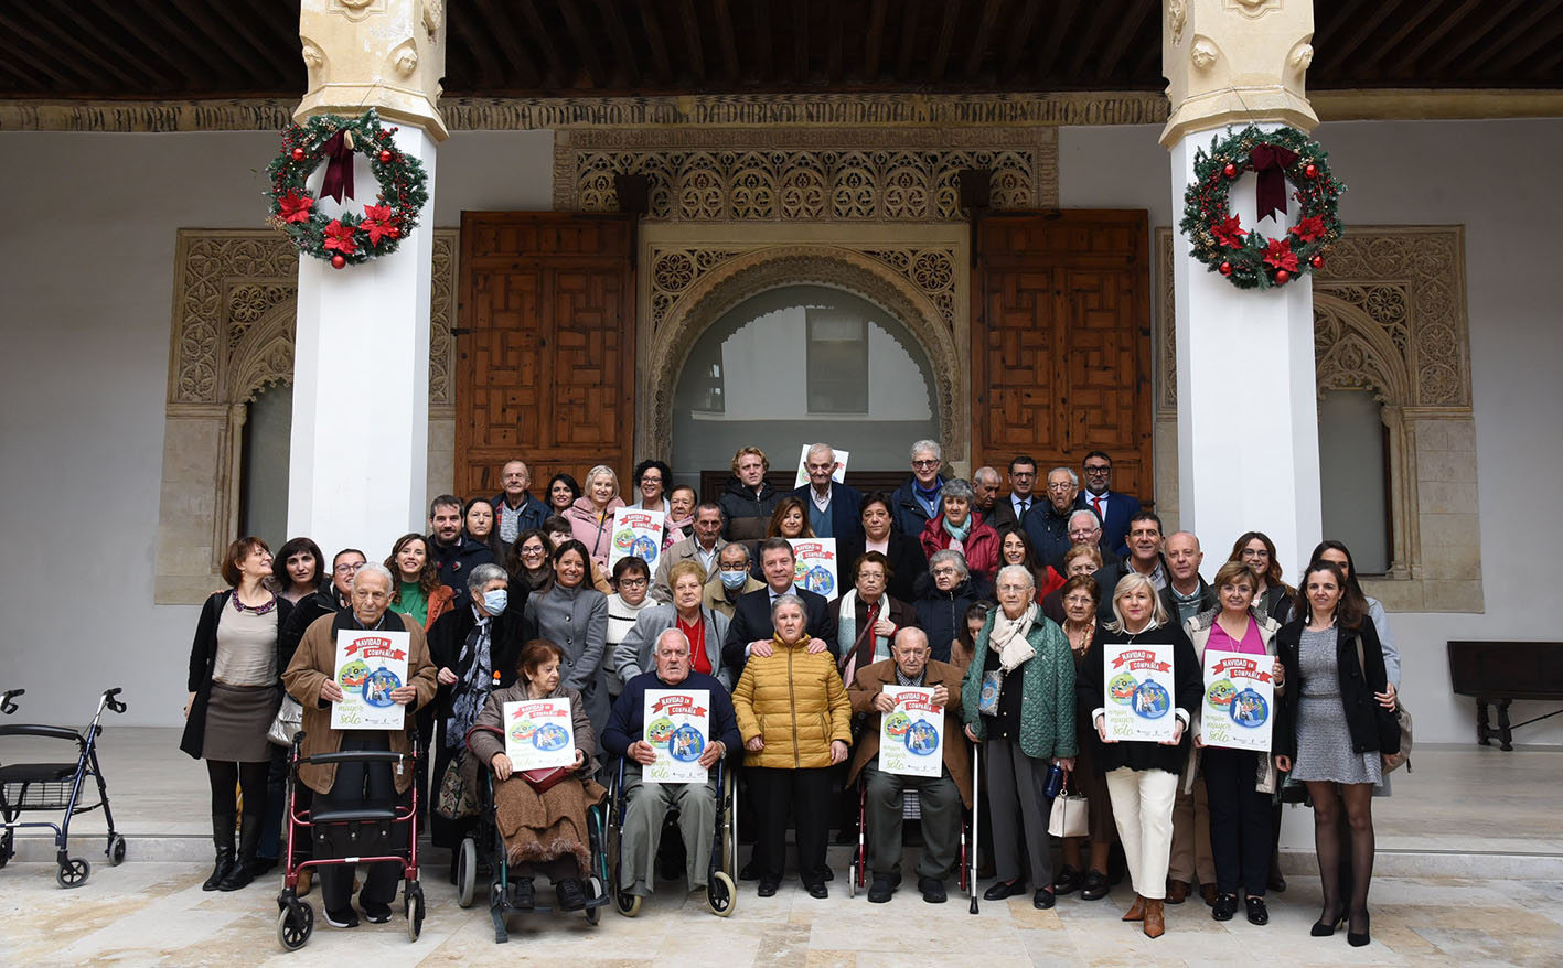
<path id="1" fill-rule="evenodd" d="M 1325 151 L 1296 128 L 1261 131 L 1252 125 L 1194 153 L 1194 181 L 1183 192 L 1179 228 L 1191 254 L 1238 289 L 1285 286 L 1300 273 L 1324 267 L 1324 250 L 1341 237 L 1339 194 Z M 1258 217 L 1286 214 L 1286 183 L 1302 206 L 1297 225 L 1280 239 L 1244 230 L 1227 206 L 1232 183 L 1244 172 L 1258 175 Z"/>

